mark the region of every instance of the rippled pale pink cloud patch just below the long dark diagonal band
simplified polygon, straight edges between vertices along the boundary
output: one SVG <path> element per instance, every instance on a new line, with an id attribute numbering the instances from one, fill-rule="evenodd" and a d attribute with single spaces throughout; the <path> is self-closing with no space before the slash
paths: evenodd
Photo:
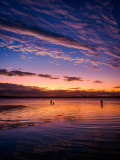
<path id="1" fill-rule="evenodd" d="M 6 43 L 1 43 L 1 47 L 7 47 L 10 50 L 22 52 L 23 56 L 29 56 L 29 54 L 33 53 L 34 55 L 41 55 L 41 56 L 49 56 L 54 59 L 63 59 L 68 61 L 75 61 L 76 58 L 72 58 L 70 55 L 64 53 L 60 49 L 52 49 L 48 47 L 43 47 L 40 42 L 36 42 L 36 40 L 33 38 L 29 38 L 29 43 L 26 37 L 19 36 L 18 34 L 6 34 L 6 33 L 0 33 L 2 38 L 5 40 L 9 40 Z M 20 44 L 15 44 L 14 41 L 19 42 Z"/>

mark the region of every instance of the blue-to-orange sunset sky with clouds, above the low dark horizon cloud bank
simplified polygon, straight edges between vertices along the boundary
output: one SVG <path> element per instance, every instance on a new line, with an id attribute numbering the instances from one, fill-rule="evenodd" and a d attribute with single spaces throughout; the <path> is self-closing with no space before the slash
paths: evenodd
<path id="1" fill-rule="evenodd" d="M 5 84 L 120 91 L 120 1 L 1 0 Z"/>

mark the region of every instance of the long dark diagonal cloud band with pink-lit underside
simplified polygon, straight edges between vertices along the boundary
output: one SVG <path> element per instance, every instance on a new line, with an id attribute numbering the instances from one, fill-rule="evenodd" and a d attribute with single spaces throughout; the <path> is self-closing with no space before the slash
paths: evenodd
<path id="1" fill-rule="evenodd" d="M 96 48 L 87 43 L 78 42 L 72 38 L 63 36 L 61 34 L 56 34 L 50 31 L 43 30 L 37 26 L 28 26 L 22 23 L 12 23 L 11 21 L 2 21 L 0 22 L 0 29 L 7 30 L 10 32 L 34 36 L 41 40 L 46 40 L 53 44 L 63 45 L 66 47 L 73 47 L 77 49 L 91 50 L 92 52 L 96 51 Z"/>

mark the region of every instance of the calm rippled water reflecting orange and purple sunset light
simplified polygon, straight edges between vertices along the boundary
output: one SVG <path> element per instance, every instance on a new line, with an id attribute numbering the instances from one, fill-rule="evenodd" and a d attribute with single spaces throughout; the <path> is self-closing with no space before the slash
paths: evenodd
<path id="1" fill-rule="evenodd" d="M 0 99 L 0 160 L 120 158 L 120 101 Z M 6 107 L 3 109 L 3 107 Z M 9 108 L 10 107 L 10 108 Z"/>

